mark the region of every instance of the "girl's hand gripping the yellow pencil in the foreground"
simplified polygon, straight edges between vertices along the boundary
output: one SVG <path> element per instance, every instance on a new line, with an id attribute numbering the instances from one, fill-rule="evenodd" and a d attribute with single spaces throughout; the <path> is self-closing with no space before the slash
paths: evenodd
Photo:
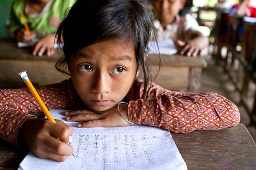
<path id="1" fill-rule="evenodd" d="M 68 144 L 72 142 L 73 129 L 61 120 L 56 122 L 28 117 L 22 125 L 21 142 L 39 158 L 63 162 L 74 152 Z"/>

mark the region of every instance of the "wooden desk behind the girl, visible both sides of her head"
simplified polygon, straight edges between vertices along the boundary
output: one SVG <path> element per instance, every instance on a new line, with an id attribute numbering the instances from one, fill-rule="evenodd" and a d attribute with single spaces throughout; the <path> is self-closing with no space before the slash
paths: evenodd
<path id="1" fill-rule="evenodd" d="M 12 38 L 0 38 L 0 82 L 23 83 L 18 72 L 26 70 L 33 83 L 56 83 L 69 78 L 54 67 L 53 57 L 33 56 L 29 49 L 18 48 Z M 158 63 L 154 55 L 148 56 L 156 75 Z M 161 71 L 154 80 L 169 90 L 196 92 L 200 87 L 202 67 L 207 66 L 203 57 L 187 57 L 184 55 L 161 55 Z"/>

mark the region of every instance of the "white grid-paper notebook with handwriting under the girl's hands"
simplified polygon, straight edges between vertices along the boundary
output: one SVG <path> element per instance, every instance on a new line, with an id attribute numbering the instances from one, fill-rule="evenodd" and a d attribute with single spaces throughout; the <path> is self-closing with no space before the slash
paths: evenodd
<path id="1" fill-rule="evenodd" d="M 59 112 L 50 111 L 53 117 Z M 63 112 L 63 111 L 62 111 Z M 19 170 L 187 170 L 170 132 L 137 125 L 74 128 L 74 154 L 64 162 L 37 158 L 32 152 Z"/>

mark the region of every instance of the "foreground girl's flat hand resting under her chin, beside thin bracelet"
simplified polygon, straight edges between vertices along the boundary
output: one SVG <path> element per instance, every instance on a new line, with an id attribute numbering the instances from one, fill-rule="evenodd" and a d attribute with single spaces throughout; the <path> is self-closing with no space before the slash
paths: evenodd
<path id="1" fill-rule="evenodd" d="M 120 112 L 128 120 L 127 110 L 128 105 L 121 104 L 119 106 Z M 105 112 L 92 112 L 89 110 L 76 110 L 66 112 L 66 120 L 71 122 L 81 122 L 77 125 L 79 128 L 92 127 L 120 127 L 130 125 L 123 120 L 118 112 L 118 106 L 115 106 Z"/>

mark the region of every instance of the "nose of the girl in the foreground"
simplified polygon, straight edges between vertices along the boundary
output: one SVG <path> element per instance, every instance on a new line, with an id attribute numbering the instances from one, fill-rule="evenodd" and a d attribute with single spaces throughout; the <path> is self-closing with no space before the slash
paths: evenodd
<path id="1" fill-rule="evenodd" d="M 92 85 L 92 92 L 103 94 L 110 91 L 110 85 L 108 81 L 109 77 L 106 74 L 98 74 L 95 76 L 94 83 Z"/>

